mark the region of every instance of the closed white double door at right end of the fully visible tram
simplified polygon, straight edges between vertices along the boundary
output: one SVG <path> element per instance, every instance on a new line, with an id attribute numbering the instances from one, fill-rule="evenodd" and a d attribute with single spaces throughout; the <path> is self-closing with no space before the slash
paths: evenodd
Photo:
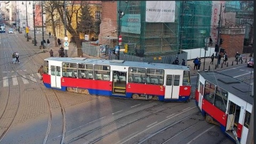
<path id="1" fill-rule="evenodd" d="M 166 75 L 165 99 L 179 99 L 180 75 Z"/>

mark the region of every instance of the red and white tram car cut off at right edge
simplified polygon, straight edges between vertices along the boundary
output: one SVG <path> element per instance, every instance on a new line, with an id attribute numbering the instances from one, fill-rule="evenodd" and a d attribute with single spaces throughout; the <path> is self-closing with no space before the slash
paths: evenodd
<path id="1" fill-rule="evenodd" d="M 252 86 L 217 72 L 198 73 L 196 105 L 206 121 L 235 142 L 246 143 L 252 113 Z"/>

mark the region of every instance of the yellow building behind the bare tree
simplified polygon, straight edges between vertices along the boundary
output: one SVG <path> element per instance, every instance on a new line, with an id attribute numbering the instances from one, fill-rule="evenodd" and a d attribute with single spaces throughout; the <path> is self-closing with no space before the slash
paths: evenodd
<path id="1" fill-rule="evenodd" d="M 78 10 L 80 7 L 80 2 L 79 1 L 67 1 L 70 2 L 69 4 L 66 4 L 66 9 L 67 12 L 72 12 L 71 9 L 73 9 L 73 17 L 71 18 L 71 26 L 73 29 L 76 30 L 77 28 L 77 15 L 79 17 L 79 15 L 81 14 L 81 10 Z M 74 4 L 72 6 L 71 3 L 77 2 L 77 4 Z M 101 16 L 101 1 L 87 1 L 90 2 L 90 9 L 91 9 L 91 13 L 92 13 L 92 17 L 95 19 L 95 21 L 100 20 L 100 16 Z M 78 10 L 78 13 L 76 13 L 76 11 Z M 57 10 L 54 11 L 54 20 L 55 20 L 55 32 L 56 32 L 56 36 L 57 38 L 60 39 L 64 39 L 65 37 L 65 27 L 61 21 L 60 15 L 58 13 Z M 50 12 L 46 12 L 46 21 L 49 21 L 51 19 L 51 13 Z M 68 22 L 68 19 L 66 20 Z M 79 21 L 79 20 L 78 20 Z M 68 27 L 68 25 L 66 25 L 66 27 Z M 53 35 L 53 30 L 52 30 L 52 23 L 51 22 L 46 22 L 46 33 L 51 32 L 51 34 Z M 66 31 L 67 33 L 67 37 L 68 37 L 68 41 L 70 42 L 72 35 L 69 33 L 69 31 Z M 97 38 L 98 39 L 98 35 L 99 34 L 92 34 L 89 35 L 90 39 L 93 38 Z M 79 37 L 81 39 L 84 39 L 84 34 L 80 33 Z"/>

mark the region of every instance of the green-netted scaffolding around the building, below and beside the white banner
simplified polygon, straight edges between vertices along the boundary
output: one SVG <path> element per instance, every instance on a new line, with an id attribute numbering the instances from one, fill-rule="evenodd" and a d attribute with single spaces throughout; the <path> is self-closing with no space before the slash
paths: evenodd
<path id="1" fill-rule="evenodd" d="M 120 3 L 120 6 L 119 6 Z M 210 35 L 211 1 L 175 1 L 174 22 L 146 22 L 147 1 L 118 1 L 123 44 L 128 54 L 140 57 L 178 54 L 204 47 Z"/>

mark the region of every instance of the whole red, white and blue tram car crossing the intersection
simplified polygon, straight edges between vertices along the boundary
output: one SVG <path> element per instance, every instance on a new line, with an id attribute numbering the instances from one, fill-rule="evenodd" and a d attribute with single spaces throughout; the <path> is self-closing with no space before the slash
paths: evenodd
<path id="1" fill-rule="evenodd" d="M 87 58 L 47 58 L 47 88 L 109 97 L 188 101 L 189 68 L 165 63 Z"/>

